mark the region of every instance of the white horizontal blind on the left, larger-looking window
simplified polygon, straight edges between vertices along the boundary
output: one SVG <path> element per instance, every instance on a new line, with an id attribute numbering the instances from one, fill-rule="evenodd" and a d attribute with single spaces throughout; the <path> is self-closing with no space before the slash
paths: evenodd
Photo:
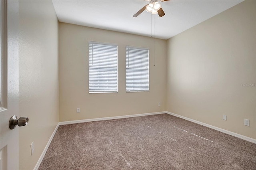
<path id="1" fill-rule="evenodd" d="M 117 45 L 89 42 L 89 93 L 118 92 Z"/>

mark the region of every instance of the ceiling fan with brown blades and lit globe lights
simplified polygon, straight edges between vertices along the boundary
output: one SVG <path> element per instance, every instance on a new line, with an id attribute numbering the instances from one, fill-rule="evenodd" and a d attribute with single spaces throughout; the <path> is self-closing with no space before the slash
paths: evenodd
<path id="1" fill-rule="evenodd" d="M 134 14 L 133 17 L 137 17 L 140 15 L 144 10 L 147 12 L 150 12 L 151 14 L 158 14 L 160 17 L 164 16 L 164 11 L 161 7 L 161 4 L 158 2 L 158 0 L 144 0 L 150 2 L 150 4 L 145 5 L 142 7 L 136 14 Z M 160 1 L 168 1 L 168 0 L 160 0 Z"/>

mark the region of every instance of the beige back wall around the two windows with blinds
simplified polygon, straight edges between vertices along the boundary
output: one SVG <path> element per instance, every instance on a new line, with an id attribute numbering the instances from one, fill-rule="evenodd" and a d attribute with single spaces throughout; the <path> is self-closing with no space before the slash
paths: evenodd
<path id="1" fill-rule="evenodd" d="M 88 93 L 88 41 L 118 44 L 118 93 Z M 60 121 L 166 111 L 166 40 L 155 39 L 156 66 L 149 37 L 60 23 L 59 42 Z M 125 45 L 150 49 L 150 92 L 126 93 Z"/>

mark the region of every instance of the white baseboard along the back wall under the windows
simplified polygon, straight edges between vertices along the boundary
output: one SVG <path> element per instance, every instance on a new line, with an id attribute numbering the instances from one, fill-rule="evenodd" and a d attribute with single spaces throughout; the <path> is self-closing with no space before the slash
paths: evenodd
<path id="1" fill-rule="evenodd" d="M 158 115 L 158 114 L 164 114 L 164 113 L 166 113 L 166 111 L 154 112 L 154 113 L 143 113 L 143 114 L 137 114 L 137 115 L 103 117 L 103 118 L 96 118 L 96 119 L 83 119 L 83 120 L 77 120 L 77 121 L 60 122 L 59 125 L 70 125 L 70 124 L 75 124 L 75 123 L 85 123 L 85 122 L 94 122 L 94 121 L 106 121 L 106 120 L 112 120 L 112 119 L 124 119 L 124 118 L 129 118 L 129 117 L 140 117 L 140 116 L 148 116 L 148 115 Z"/>

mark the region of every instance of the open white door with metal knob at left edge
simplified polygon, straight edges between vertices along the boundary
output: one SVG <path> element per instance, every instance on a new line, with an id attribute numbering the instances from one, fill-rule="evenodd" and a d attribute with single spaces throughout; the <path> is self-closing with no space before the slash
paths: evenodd
<path id="1" fill-rule="evenodd" d="M 0 108 L 0 168 L 19 168 L 19 129 L 11 130 L 9 120 L 18 116 L 18 1 L 1 2 L 1 108 Z"/>

